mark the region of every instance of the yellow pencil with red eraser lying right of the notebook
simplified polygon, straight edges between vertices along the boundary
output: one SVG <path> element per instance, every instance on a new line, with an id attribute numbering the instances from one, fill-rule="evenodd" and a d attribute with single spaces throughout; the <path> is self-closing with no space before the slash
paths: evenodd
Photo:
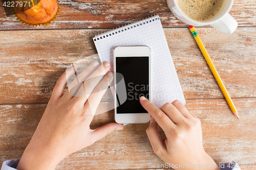
<path id="1" fill-rule="evenodd" d="M 230 96 L 229 96 L 229 94 L 228 94 L 228 92 L 227 92 L 227 89 L 226 89 L 226 87 L 224 86 L 224 84 L 223 84 L 223 82 L 222 82 L 222 80 L 221 80 L 221 77 L 220 77 L 220 75 L 218 74 L 218 72 L 217 72 L 217 70 L 216 70 L 216 68 L 215 68 L 215 66 L 214 66 L 214 63 L 212 63 L 212 61 L 211 61 L 211 59 L 210 59 L 210 57 L 209 57 L 209 55 L 208 55 L 208 53 L 207 53 L 207 51 L 206 51 L 206 49 L 205 49 L 205 47 L 204 47 L 204 45 L 203 45 L 201 39 L 199 38 L 199 36 L 198 36 L 198 34 L 197 34 L 197 32 L 196 32 L 194 26 L 189 26 L 189 30 L 191 31 L 192 35 L 194 36 L 195 40 L 197 41 L 197 44 L 198 44 L 198 46 L 199 46 L 201 52 L 203 53 L 204 58 L 205 58 L 205 60 L 207 61 L 207 63 L 208 63 L 208 65 L 209 65 L 209 67 L 210 67 L 210 70 L 211 70 L 212 74 L 214 74 L 214 77 L 215 77 L 216 81 L 218 82 L 218 84 L 219 84 L 219 86 L 220 86 L 220 88 L 221 88 L 221 91 L 222 91 L 222 93 L 224 94 L 224 96 L 225 96 L 225 98 L 226 98 L 226 100 L 227 100 L 227 103 L 228 103 L 228 105 L 229 105 L 231 111 L 232 111 L 232 112 L 234 113 L 234 115 L 237 116 L 237 118 L 239 119 L 239 117 L 238 117 L 238 111 L 237 111 L 236 107 L 234 106 L 233 101 L 231 100 L 231 98 L 230 98 Z"/>

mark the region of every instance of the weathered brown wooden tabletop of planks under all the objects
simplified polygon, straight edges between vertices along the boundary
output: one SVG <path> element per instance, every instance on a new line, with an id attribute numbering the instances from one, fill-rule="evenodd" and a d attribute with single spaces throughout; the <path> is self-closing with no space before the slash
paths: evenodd
<path id="1" fill-rule="evenodd" d="M 225 35 L 211 27 L 197 31 L 236 105 L 240 120 L 224 96 L 187 25 L 169 11 L 165 0 L 92 1 L 59 0 L 57 19 L 46 27 L 29 27 L 0 7 L 0 163 L 20 158 L 66 67 L 97 54 L 95 34 L 159 14 L 186 107 L 201 119 L 203 145 L 217 162 L 256 168 L 256 2 L 237 0 L 230 11 L 239 27 Z M 88 63 L 96 60 L 88 57 Z M 104 95 L 98 112 L 112 99 Z M 114 122 L 113 110 L 95 116 L 91 127 Z M 146 136 L 148 124 L 97 141 L 63 159 L 56 169 L 147 169 L 163 164 Z M 243 166 L 242 166 L 243 167 Z"/>

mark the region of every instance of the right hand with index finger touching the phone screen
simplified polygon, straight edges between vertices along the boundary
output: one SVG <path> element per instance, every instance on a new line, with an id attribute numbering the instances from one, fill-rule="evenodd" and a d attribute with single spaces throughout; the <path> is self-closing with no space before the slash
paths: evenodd
<path id="1" fill-rule="evenodd" d="M 142 96 L 140 103 L 152 116 L 146 133 L 153 151 L 170 167 L 220 169 L 203 149 L 199 118 L 190 113 L 181 102 L 174 101 L 157 108 Z M 159 126 L 166 135 L 164 139 L 160 137 Z"/>

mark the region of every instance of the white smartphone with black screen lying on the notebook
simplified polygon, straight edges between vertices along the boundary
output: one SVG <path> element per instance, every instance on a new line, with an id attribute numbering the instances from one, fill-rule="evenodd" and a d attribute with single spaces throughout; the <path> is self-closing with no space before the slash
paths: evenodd
<path id="1" fill-rule="evenodd" d="M 141 95 L 151 101 L 151 49 L 148 46 L 118 46 L 114 49 L 115 121 L 144 124 L 150 114 L 141 106 Z"/>

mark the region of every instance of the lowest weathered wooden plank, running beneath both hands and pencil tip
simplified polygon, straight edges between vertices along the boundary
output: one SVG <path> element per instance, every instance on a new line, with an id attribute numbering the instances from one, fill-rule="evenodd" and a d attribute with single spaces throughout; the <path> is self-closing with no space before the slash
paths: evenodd
<path id="1" fill-rule="evenodd" d="M 186 107 L 201 119 L 203 145 L 217 162 L 256 163 L 256 99 L 234 99 L 240 120 L 224 99 L 187 100 Z M 109 107 L 101 103 L 97 112 Z M 0 163 L 22 156 L 46 104 L 0 106 Z M 36 112 L 35 112 L 36 110 Z M 95 116 L 91 128 L 114 122 L 114 112 Z M 56 169 L 131 169 L 148 168 L 148 163 L 163 162 L 152 151 L 145 130 L 148 124 L 126 125 L 86 149 L 63 159 Z"/>

